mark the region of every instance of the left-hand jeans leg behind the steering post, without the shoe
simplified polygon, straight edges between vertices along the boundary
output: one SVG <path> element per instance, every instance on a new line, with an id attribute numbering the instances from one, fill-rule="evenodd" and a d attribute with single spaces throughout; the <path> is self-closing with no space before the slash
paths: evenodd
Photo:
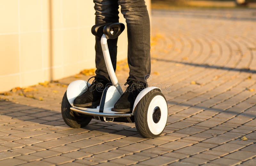
<path id="1" fill-rule="evenodd" d="M 118 0 L 93 0 L 95 9 L 95 24 L 101 23 L 115 23 L 119 22 L 118 17 Z M 108 70 L 103 58 L 103 52 L 100 44 L 100 37 L 95 37 L 95 64 L 96 64 L 96 77 L 109 79 Z M 112 65 L 116 71 L 116 54 L 117 54 L 117 38 L 108 39 L 108 49 Z"/>

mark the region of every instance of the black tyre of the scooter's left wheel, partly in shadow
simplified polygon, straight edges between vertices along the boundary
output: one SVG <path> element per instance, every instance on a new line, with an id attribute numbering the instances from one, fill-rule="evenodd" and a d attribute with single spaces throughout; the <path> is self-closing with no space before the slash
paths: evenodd
<path id="1" fill-rule="evenodd" d="M 68 102 L 67 91 L 64 93 L 61 102 L 61 114 L 64 122 L 72 128 L 81 128 L 87 126 L 92 118 L 85 117 L 84 115 L 76 115 L 72 110 L 70 110 L 71 105 Z"/>

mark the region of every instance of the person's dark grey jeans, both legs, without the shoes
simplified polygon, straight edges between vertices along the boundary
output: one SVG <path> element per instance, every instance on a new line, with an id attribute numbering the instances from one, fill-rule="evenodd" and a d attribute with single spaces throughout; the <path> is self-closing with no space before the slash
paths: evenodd
<path id="1" fill-rule="evenodd" d="M 129 77 L 147 83 L 150 75 L 150 22 L 144 0 L 93 0 L 95 6 L 95 24 L 119 22 L 118 8 L 124 15 L 127 24 Z M 114 70 L 116 71 L 117 39 L 108 39 L 108 49 Z M 96 76 L 109 79 L 103 58 L 100 38 L 95 44 Z"/>

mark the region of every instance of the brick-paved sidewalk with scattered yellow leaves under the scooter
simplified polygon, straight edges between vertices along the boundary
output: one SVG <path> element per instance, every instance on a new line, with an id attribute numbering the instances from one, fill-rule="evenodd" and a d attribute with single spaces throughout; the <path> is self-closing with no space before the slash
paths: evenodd
<path id="1" fill-rule="evenodd" d="M 255 165 L 255 13 L 153 11 L 149 84 L 162 86 L 169 107 L 159 138 L 141 138 L 134 123 L 69 128 L 60 114 L 66 85 L 90 76 L 0 95 L 0 165 Z"/>

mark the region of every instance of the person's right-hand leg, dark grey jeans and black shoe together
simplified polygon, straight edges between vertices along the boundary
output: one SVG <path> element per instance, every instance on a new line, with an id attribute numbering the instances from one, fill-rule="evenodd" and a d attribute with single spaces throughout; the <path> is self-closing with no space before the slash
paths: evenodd
<path id="1" fill-rule="evenodd" d="M 130 112 L 140 91 L 147 87 L 150 75 L 150 22 L 144 0 L 119 0 L 118 3 L 127 24 L 130 72 L 129 86 L 112 110 Z"/>

